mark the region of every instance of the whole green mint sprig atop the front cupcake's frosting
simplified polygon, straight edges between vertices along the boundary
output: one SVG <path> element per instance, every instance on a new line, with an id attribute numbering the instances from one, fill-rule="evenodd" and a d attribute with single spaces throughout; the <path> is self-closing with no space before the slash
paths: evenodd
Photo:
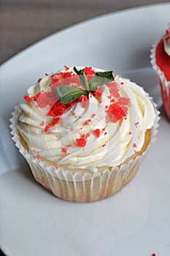
<path id="1" fill-rule="evenodd" d="M 85 69 L 78 70 L 76 67 L 73 68 L 74 72 L 80 77 L 80 83 L 82 90 L 74 88 L 72 86 L 58 86 L 55 87 L 55 92 L 58 99 L 63 104 L 79 99 L 82 95 L 88 95 L 90 92 L 96 91 L 98 86 L 104 86 L 106 83 L 112 83 L 115 79 L 112 71 L 96 72 L 93 78 L 88 82 L 88 78 L 85 75 Z"/>

